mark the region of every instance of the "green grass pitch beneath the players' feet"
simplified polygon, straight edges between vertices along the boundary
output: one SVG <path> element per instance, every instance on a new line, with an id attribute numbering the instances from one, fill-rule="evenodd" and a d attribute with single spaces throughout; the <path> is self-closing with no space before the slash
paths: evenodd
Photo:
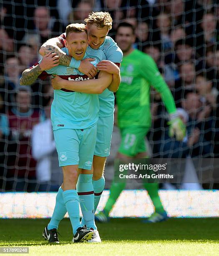
<path id="1" fill-rule="evenodd" d="M 58 229 L 60 244 L 48 245 L 42 238 L 47 224 L 48 219 L 1 219 L 0 247 L 28 246 L 29 255 L 40 256 L 219 255 L 216 218 L 171 218 L 155 224 L 143 224 L 141 219 L 111 219 L 98 224 L 101 244 L 71 243 L 72 228 L 65 219 Z"/>

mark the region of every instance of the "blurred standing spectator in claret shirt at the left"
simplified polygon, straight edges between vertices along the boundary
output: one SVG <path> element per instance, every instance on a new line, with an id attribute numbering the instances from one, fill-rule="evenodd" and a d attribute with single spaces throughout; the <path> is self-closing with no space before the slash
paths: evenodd
<path id="1" fill-rule="evenodd" d="M 30 138 L 33 126 L 40 122 L 40 113 L 31 108 L 30 102 L 30 88 L 20 87 L 16 93 L 17 105 L 8 111 L 10 190 L 35 191 L 36 161 L 31 153 Z"/>

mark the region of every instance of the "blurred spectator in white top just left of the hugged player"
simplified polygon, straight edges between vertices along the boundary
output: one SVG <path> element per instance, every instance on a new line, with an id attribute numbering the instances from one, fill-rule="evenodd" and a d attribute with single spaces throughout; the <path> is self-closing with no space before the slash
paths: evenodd
<path id="1" fill-rule="evenodd" d="M 40 185 L 38 191 L 58 191 L 63 179 L 50 119 L 52 102 L 51 98 L 44 108 L 46 120 L 35 125 L 32 132 L 32 152 L 37 161 L 36 177 Z"/>

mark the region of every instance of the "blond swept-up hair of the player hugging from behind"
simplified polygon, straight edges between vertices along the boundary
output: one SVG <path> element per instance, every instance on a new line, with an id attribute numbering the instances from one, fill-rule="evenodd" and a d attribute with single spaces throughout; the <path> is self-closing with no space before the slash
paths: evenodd
<path id="1" fill-rule="evenodd" d="M 105 26 L 108 29 L 112 28 L 113 19 L 107 12 L 92 12 L 88 15 L 88 18 L 84 20 L 87 24 L 94 24 L 98 29 L 102 29 Z"/>

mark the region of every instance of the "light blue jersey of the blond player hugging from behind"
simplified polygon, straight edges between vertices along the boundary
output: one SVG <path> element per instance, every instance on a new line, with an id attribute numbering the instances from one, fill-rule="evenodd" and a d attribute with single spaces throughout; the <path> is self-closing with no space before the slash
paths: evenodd
<path id="1" fill-rule="evenodd" d="M 60 43 L 64 44 L 65 33 L 58 37 Z M 98 50 L 101 50 L 106 55 L 106 59 L 110 60 L 114 63 L 121 63 L 123 58 L 123 53 L 121 49 L 118 47 L 116 42 L 110 37 L 106 36 L 103 44 L 100 46 Z M 95 50 L 95 51 L 98 51 Z M 99 102 L 100 102 L 100 117 L 107 117 L 113 115 L 114 113 L 114 94 L 108 89 L 104 90 L 103 93 L 99 94 Z"/>

